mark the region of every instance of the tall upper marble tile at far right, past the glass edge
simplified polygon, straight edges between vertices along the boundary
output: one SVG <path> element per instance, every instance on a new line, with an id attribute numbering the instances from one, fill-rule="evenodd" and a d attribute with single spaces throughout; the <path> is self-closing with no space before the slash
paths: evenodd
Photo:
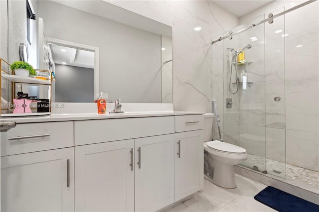
<path id="1" fill-rule="evenodd" d="M 286 14 L 287 129 L 319 129 L 318 19 L 318 1 Z"/>

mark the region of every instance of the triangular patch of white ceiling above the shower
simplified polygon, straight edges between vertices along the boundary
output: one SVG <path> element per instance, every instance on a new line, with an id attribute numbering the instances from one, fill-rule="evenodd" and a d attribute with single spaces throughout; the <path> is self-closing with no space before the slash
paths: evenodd
<path id="1" fill-rule="evenodd" d="M 255 9 L 264 6 L 273 0 L 213 0 L 216 4 L 223 7 L 237 17 L 246 15 Z"/>

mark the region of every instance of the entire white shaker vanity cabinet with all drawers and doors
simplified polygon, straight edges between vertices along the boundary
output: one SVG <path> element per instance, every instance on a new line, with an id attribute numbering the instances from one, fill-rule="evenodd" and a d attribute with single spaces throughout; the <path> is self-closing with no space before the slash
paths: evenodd
<path id="1" fill-rule="evenodd" d="M 160 211 L 203 188 L 203 121 L 18 123 L 1 133 L 1 211 Z"/>

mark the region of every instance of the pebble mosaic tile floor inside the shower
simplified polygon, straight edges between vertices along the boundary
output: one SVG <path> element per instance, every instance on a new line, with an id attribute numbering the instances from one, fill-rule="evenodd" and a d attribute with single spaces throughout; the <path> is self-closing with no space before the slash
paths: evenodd
<path id="1" fill-rule="evenodd" d="M 285 164 L 283 162 L 266 159 L 258 155 L 249 154 L 249 158 L 240 165 L 253 168 L 258 166 L 259 171 L 267 170 L 268 174 L 289 180 L 295 181 L 298 184 L 304 184 L 308 188 L 314 187 L 319 190 L 319 172 L 305 169 L 302 167 Z M 286 165 L 286 168 L 285 168 Z M 307 188 L 306 188 L 307 189 Z"/>

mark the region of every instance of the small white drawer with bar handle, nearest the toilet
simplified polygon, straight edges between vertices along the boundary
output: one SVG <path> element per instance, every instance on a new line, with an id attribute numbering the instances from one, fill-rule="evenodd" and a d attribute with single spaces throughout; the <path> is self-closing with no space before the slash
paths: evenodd
<path id="1" fill-rule="evenodd" d="M 176 115 L 175 132 L 185 132 L 204 128 L 204 115 Z"/>

